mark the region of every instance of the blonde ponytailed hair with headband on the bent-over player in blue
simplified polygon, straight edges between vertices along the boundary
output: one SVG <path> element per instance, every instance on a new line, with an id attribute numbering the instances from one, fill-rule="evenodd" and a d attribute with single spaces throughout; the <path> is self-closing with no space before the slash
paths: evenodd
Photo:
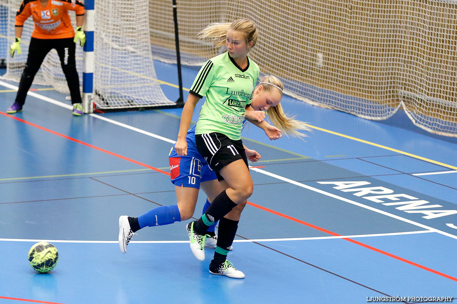
<path id="1" fill-rule="evenodd" d="M 282 84 L 281 80 L 279 80 L 276 76 L 266 75 L 260 80 L 260 82 L 262 82 L 261 84 L 263 86 L 263 89 L 267 92 L 272 92 L 273 90 L 279 89 L 281 91 L 282 96 L 282 89 L 284 88 L 284 85 Z M 286 136 L 291 135 L 303 139 L 303 137 L 307 137 L 308 135 L 300 132 L 299 130 L 311 130 L 306 125 L 307 123 L 304 123 L 300 120 L 296 120 L 296 115 L 288 116 L 286 113 L 284 113 L 281 103 L 278 103 L 274 107 L 270 107 L 266 111 L 266 113 L 268 114 L 268 117 L 271 120 L 271 124 L 273 124 L 276 128 L 280 129 L 282 131 L 282 134 L 285 134 Z"/>

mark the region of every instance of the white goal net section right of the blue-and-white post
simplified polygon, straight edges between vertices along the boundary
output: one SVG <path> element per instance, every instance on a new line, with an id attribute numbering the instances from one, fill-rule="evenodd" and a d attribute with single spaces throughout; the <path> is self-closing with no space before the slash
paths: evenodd
<path id="1" fill-rule="evenodd" d="M 170 4 L 166 8 L 172 11 Z M 155 74 L 148 2 L 96 1 L 95 11 L 96 105 L 99 108 L 174 105 L 175 102 L 165 97 Z M 170 31 L 174 33 L 173 25 Z"/>

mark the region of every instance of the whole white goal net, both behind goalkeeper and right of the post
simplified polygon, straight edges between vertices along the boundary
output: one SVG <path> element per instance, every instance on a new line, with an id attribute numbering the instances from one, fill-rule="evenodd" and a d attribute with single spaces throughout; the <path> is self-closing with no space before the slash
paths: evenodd
<path id="1" fill-rule="evenodd" d="M 21 0 L 0 0 L 8 8 L 8 43 L 14 39 L 14 19 Z M 167 5 L 171 11 L 171 5 Z M 97 108 L 144 108 L 174 106 L 157 79 L 149 34 L 149 3 L 144 0 L 103 0 L 95 3 L 94 75 L 92 101 Z M 70 12 L 73 26 L 75 16 Z M 173 31 L 174 26 L 171 27 Z M 7 57 L 4 79 L 18 82 L 27 61 L 33 30 L 27 19 L 21 37 L 21 55 Z M 9 49 L 9 46 L 8 46 Z M 82 81 L 82 47 L 76 47 L 77 70 Z M 58 92 L 69 93 L 57 52 L 45 58 L 34 84 L 51 85 Z"/>

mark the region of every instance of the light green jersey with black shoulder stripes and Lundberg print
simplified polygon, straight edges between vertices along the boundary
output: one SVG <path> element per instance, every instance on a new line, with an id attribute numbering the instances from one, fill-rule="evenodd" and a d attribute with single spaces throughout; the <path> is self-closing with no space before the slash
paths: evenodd
<path id="1" fill-rule="evenodd" d="M 195 134 L 218 132 L 241 139 L 245 107 L 252 102 L 259 66 L 249 60 L 241 69 L 225 52 L 208 60 L 198 72 L 190 93 L 206 101 L 200 110 Z"/>

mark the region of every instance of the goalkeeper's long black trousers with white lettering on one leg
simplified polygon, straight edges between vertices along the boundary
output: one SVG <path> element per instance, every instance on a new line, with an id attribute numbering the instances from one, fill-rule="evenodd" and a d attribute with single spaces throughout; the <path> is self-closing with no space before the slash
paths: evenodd
<path id="1" fill-rule="evenodd" d="M 21 106 L 24 105 L 27 92 L 32 86 L 33 78 L 35 78 L 41 67 L 44 57 L 52 49 L 56 49 L 60 58 L 60 65 L 67 79 L 68 88 L 70 89 L 71 103 L 81 103 L 80 80 L 74 59 L 76 45 L 73 42 L 73 38 L 37 39 L 33 37 L 30 40 L 26 67 L 22 72 L 21 81 L 19 82 L 16 103 L 19 103 Z"/>

